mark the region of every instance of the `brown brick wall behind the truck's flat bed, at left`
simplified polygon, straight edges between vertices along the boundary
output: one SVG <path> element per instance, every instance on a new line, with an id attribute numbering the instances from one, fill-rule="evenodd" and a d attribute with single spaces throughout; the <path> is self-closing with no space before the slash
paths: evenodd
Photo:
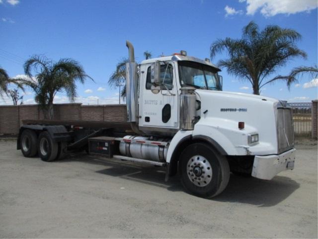
<path id="1" fill-rule="evenodd" d="M 0 106 L 0 134 L 17 134 L 24 119 L 44 119 L 44 115 L 38 105 Z M 126 105 L 56 104 L 54 119 L 126 122 Z"/>

